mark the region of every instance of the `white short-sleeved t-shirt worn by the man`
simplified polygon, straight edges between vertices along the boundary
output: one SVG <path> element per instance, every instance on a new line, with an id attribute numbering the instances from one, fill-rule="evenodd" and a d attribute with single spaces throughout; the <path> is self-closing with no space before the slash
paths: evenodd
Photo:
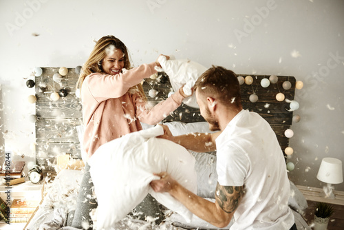
<path id="1" fill-rule="evenodd" d="M 286 162 L 268 122 L 242 109 L 217 137 L 216 148 L 219 185 L 244 185 L 230 229 L 290 229 Z"/>

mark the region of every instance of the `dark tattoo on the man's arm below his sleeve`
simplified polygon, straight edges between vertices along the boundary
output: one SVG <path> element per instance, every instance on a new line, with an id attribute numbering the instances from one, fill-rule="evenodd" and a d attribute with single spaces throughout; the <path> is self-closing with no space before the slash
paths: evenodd
<path id="1" fill-rule="evenodd" d="M 232 213 L 237 209 L 239 201 L 244 196 L 244 187 L 222 186 L 217 182 L 215 199 L 226 213 Z"/>

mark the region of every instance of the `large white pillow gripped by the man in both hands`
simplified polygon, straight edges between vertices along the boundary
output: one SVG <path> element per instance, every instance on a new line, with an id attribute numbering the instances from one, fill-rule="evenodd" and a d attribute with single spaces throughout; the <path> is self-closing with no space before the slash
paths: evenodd
<path id="1" fill-rule="evenodd" d="M 133 132 L 101 145 L 89 158 L 98 199 L 97 226 L 107 229 L 124 218 L 148 193 L 165 207 L 190 221 L 193 214 L 168 193 L 155 193 L 149 183 L 153 173 L 167 171 L 193 193 L 197 192 L 195 158 L 184 147 L 155 138 L 160 125 Z"/>

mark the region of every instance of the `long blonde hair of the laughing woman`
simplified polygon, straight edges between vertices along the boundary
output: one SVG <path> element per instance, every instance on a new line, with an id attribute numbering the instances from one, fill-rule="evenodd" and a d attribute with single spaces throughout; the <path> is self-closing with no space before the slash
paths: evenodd
<path id="1" fill-rule="evenodd" d="M 80 76 L 78 78 L 78 82 L 76 83 L 76 88 L 79 88 L 81 90 L 81 86 L 83 85 L 83 81 L 85 80 L 85 77 L 92 73 L 103 73 L 101 63 L 103 59 L 107 56 L 106 48 L 109 48 L 110 45 L 114 45 L 116 49 L 119 49 L 124 54 L 124 68 L 126 70 L 131 69 L 131 63 L 129 61 L 129 54 L 127 47 L 125 46 L 120 39 L 117 39 L 116 36 L 107 35 L 103 36 L 101 39 L 99 39 L 94 46 L 94 49 L 92 50 L 91 54 L 89 54 L 89 58 L 87 59 L 86 63 L 83 65 Z M 134 85 L 131 87 L 128 92 L 135 93 L 138 92 L 140 97 L 147 101 L 147 97 L 144 94 L 144 90 L 142 85 L 139 83 L 138 85 Z"/>

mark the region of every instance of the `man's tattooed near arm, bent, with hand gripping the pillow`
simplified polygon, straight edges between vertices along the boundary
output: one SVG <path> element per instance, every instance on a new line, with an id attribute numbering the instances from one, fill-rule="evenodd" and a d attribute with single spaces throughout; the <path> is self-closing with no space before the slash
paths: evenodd
<path id="1" fill-rule="evenodd" d="M 161 179 L 151 182 L 155 192 L 169 192 L 196 216 L 220 228 L 229 224 L 244 196 L 243 187 L 221 186 L 217 183 L 215 203 L 213 203 L 185 189 L 166 173 L 157 176 Z"/>

